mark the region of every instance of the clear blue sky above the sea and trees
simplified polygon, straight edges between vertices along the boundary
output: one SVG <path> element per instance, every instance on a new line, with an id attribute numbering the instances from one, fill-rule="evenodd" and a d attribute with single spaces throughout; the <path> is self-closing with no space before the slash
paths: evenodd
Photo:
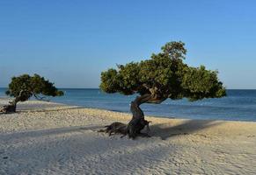
<path id="1" fill-rule="evenodd" d="M 102 71 L 179 40 L 188 65 L 256 89 L 253 0 L 1 0 L 0 87 L 39 73 L 57 88 L 99 88 Z"/>

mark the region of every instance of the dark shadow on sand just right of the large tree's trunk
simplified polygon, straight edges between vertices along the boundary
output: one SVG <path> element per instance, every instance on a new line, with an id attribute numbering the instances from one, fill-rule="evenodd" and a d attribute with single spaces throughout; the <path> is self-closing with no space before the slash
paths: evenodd
<path id="1" fill-rule="evenodd" d="M 170 126 L 170 123 L 155 124 L 150 127 L 150 135 L 152 137 L 161 137 L 165 140 L 179 135 L 193 134 L 196 131 L 214 127 L 221 123 L 222 122 L 212 120 L 188 120 L 173 126 Z"/>

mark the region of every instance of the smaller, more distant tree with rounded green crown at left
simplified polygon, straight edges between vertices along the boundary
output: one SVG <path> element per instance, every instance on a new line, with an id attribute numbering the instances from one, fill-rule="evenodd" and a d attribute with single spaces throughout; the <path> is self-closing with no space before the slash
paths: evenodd
<path id="1" fill-rule="evenodd" d="M 17 103 L 25 102 L 32 96 L 37 100 L 43 100 L 45 96 L 62 96 L 63 92 L 55 88 L 54 83 L 46 81 L 38 74 L 23 74 L 11 79 L 6 95 L 14 97 L 14 100 L 4 106 L 4 113 L 16 112 Z"/>

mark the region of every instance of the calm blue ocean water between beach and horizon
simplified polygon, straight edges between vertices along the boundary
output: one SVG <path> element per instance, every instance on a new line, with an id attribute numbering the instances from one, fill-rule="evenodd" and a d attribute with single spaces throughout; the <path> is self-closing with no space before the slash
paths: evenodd
<path id="1" fill-rule="evenodd" d="M 6 88 L 0 88 L 4 97 Z M 64 96 L 49 98 L 51 102 L 61 102 L 93 109 L 108 109 L 129 113 L 129 103 L 136 95 L 106 94 L 94 88 L 62 88 Z M 227 90 L 227 96 L 220 99 L 204 99 L 188 102 L 187 99 L 161 104 L 143 104 L 146 116 L 164 116 L 187 119 L 212 119 L 256 122 L 256 90 Z"/>

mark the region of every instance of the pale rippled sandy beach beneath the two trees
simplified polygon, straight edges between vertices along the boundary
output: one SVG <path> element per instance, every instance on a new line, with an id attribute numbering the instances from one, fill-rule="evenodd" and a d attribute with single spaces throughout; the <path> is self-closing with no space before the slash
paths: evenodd
<path id="1" fill-rule="evenodd" d="M 256 172 L 256 123 L 147 117 L 153 137 L 131 140 L 97 132 L 128 114 L 49 102 L 18 110 L 0 115 L 1 175 Z"/>

